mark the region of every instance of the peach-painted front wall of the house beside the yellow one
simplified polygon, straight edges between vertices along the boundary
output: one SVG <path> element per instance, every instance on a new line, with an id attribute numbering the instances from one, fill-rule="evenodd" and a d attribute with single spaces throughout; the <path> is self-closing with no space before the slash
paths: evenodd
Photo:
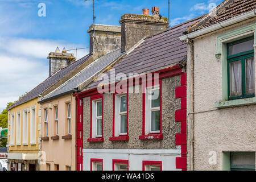
<path id="1" fill-rule="evenodd" d="M 71 103 L 71 135 L 72 139 L 62 139 L 66 133 L 67 123 L 67 103 Z M 49 109 L 52 105 L 52 109 Z M 55 109 L 59 107 L 59 139 L 53 140 L 51 137 L 56 136 L 55 133 Z M 51 170 L 55 170 L 55 164 L 59 164 L 59 170 L 65 171 L 67 166 L 72 167 L 72 171 L 76 170 L 76 99 L 72 95 L 56 98 L 49 102 L 45 102 L 42 107 L 42 137 L 45 135 L 44 125 L 44 109 L 48 109 L 48 137 L 49 140 L 42 140 L 42 151 L 46 152 L 47 164 L 51 164 Z M 40 170 L 48 170 L 47 164 L 42 164 Z"/>

